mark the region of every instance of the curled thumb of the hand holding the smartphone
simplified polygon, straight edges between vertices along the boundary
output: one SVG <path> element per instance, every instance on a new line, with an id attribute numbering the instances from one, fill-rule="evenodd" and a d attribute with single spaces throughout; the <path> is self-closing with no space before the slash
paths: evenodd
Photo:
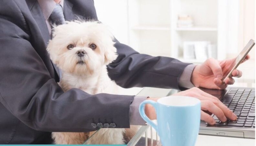
<path id="1" fill-rule="evenodd" d="M 212 73 L 214 74 L 214 76 L 216 78 L 222 79 L 222 77 L 223 77 L 222 68 L 219 65 L 219 62 L 217 60 L 215 60 L 213 58 L 209 58 L 207 60 L 207 65 L 208 65 L 208 67 L 211 68 Z"/>

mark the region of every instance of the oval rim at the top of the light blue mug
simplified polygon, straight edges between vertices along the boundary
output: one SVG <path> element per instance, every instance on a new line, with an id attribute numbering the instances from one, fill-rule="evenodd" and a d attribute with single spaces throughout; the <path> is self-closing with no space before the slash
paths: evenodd
<path id="1" fill-rule="evenodd" d="M 168 104 L 165 104 L 162 102 L 162 100 L 165 100 L 165 99 L 170 99 L 170 98 L 189 98 L 189 99 L 192 99 L 194 101 L 194 103 L 192 104 L 189 104 L 189 105 L 168 105 Z M 165 97 L 162 97 L 162 98 L 159 98 L 157 100 L 157 103 L 161 104 L 161 105 L 164 105 L 164 106 L 172 106 L 172 107 L 189 107 L 189 106 L 195 106 L 197 105 L 198 103 L 201 103 L 201 101 L 195 97 L 191 97 L 191 96 L 165 96 Z"/>

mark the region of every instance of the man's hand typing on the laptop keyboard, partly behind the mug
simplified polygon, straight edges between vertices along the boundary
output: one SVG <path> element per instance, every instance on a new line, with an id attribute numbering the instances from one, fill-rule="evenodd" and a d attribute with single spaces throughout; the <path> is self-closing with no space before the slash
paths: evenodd
<path id="1" fill-rule="evenodd" d="M 215 124 L 215 120 L 204 111 L 208 111 L 210 113 L 215 114 L 221 122 L 227 121 L 227 118 L 235 121 L 237 116 L 229 110 L 227 106 L 225 106 L 219 99 L 215 96 L 212 96 L 206 92 L 203 92 L 199 88 L 191 88 L 186 91 L 178 92 L 173 94 L 172 96 L 190 96 L 195 97 L 201 101 L 201 120 L 207 122 L 208 124 Z M 148 98 L 148 100 L 157 101 L 159 98 Z M 145 114 L 149 119 L 155 120 L 156 114 L 155 109 L 152 105 L 146 104 L 145 106 Z"/>

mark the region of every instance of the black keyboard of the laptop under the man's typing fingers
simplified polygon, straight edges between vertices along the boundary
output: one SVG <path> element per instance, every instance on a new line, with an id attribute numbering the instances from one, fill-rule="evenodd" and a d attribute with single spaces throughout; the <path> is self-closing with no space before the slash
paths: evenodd
<path id="1" fill-rule="evenodd" d="M 255 89 L 231 88 L 222 101 L 237 115 L 236 121 L 220 122 L 216 115 L 213 118 L 218 126 L 253 127 L 255 128 Z"/>

